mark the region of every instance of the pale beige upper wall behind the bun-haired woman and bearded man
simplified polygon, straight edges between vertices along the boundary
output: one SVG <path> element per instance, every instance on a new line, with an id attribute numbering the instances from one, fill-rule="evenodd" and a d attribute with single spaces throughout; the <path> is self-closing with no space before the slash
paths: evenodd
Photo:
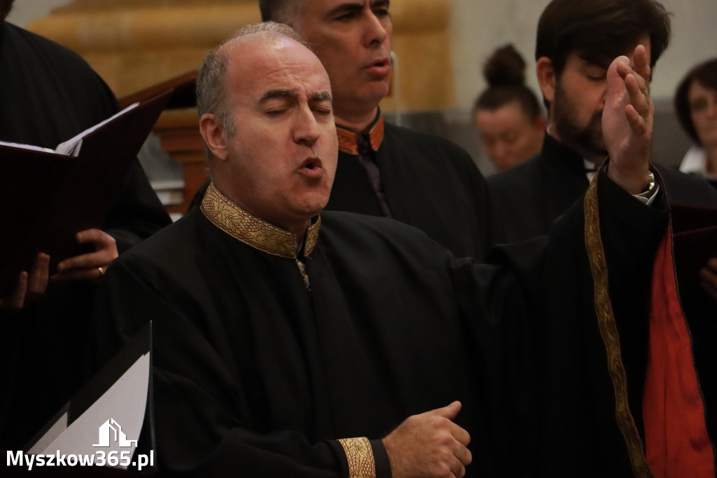
<path id="1" fill-rule="evenodd" d="M 95 0 L 100 1 L 100 0 Z M 652 90 L 656 98 L 670 98 L 675 85 L 691 65 L 717 56 L 717 1 L 663 0 L 672 11 L 673 44 L 657 65 Z M 44 17 L 69 0 L 16 0 L 10 21 L 24 25 Z M 452 56 L 455 107 L 468 108 L 485 86 L 480 65 L 497 46 L 516 44 L 533 75 L 533 48 L 537 19 L 548 0 L 452 0 Z"/>

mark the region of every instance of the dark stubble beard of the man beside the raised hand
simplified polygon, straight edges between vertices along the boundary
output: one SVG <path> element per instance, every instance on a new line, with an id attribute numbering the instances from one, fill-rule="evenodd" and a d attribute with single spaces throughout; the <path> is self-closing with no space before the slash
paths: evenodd
<path id="1" fill-rule="evenodd" d="M 575 107 L 560 82 L 556 83 L 555 100 L 551 105 L 553 123 L 560 141 L 574 149 L 585 159 L 600 164 L 607 156 L 602 139 L 602 110 L 593 113 L 586 127 L 581 128 L 574 120 Z"/>

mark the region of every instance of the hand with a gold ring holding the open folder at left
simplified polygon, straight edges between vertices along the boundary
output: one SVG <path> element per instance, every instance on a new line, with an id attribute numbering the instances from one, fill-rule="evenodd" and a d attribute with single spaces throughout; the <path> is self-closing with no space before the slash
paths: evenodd
<path id="1" fill-rule="evenodd" d="M 115 238 L 103 230 L 83 230 L 76 237 L 78 243 L 95 243 L 95 252 L 71 257 L 57 264 L 57 273 L 52 276 L 52 280 L 100 278 L 105 268 L 118 256 Z"/>

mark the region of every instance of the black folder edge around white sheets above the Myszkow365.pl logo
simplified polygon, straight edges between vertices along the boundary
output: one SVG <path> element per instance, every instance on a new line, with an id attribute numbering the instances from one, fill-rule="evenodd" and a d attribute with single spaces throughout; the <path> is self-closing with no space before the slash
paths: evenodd
<path id="1" fill-rule="evenodd" d="M 137 332 L 132 339 L 120 350 L 117 354 L 107 362 L 102 369 L 97 372 L 90 380 L 85 383 L 79 392 L 75 394 L 70 401 L 65 403 L 65 406 L 60 408 L 60 411 L 43 426 L 40 430 L 32 437 L 26 446 L 24 451 L 27 452 L 32 449 L 34 444 L 44 437 L 45 434 L 53 427 L 62 426 L 62 423 L 58 423 L 62 420 L 62 417 L 67 414 L 67 423 L 60 429 L 64 431 L 67 429 L 72 422 L 74 422 L 82 413 L 87 411 L 87 408 L 92 406 L 107 390 L 114 385 L 117 380 L 127 371 L 137 360 L 143 355 L 149 354 L 149 383 L 147 387 L 147 401 L 144 413 L 144 423 L 142 426 L 143 434 L 147 429 L 150 436 L 151 449 L 155 447 L 155 433 L 154 433 L 154 403 L 152 393 L 152 321 L 145 324 L 139 332 Z M 147 422 L 148 421 L 148 422 Z"/>

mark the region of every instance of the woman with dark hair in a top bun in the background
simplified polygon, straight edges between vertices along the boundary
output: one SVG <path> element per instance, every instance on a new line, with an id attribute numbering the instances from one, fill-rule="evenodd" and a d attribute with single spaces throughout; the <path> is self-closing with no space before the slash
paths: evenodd
<path id="1" fill-rule="evenodd" d="M 526 62 L 512 44 L 493 52 L 483 66 L 488 88 L 473 105 L 473 123 L 495 167 L 507 169 L 540 151 L 546 117 L 525 84 Z"/>

